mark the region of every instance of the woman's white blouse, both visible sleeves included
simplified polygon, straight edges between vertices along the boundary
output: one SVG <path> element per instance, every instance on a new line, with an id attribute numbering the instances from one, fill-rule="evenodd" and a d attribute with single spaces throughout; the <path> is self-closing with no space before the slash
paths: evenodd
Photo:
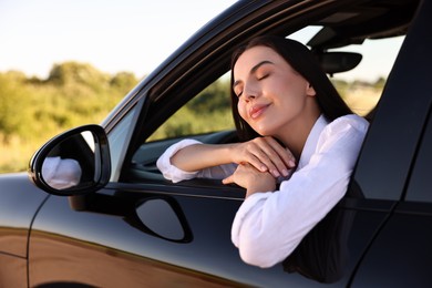
<path id="1" fill-rule="evenodd" d="M 255 193 L 244 200 L 234 218 L 232 240 L 245 263 L 266 268 L 282 261 L 342 198 L 368 126 L 358 115 L 331 123 L 321 115 L 291 177 L 282 181 L 278 191 Z M 171 165 L 169 158 L 178 150 L 196 143 L 182 141 L 160 157 L 157 167 L 167 179 L 224 178 L 234 172 L 234 164 L 195 173 Z"/>

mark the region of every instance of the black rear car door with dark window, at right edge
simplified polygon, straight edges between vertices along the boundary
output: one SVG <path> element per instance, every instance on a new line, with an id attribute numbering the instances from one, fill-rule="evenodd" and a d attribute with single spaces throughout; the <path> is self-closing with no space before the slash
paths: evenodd
<path id="1" fill-rule="evenodd" d="M 404 199 L 392 207 L 391 216 L 368 249 L 353 287 L 409 285 L 429 287 L 432 265 L 432 198 L 430 161 L 432 122 L 429 112 Z"/>

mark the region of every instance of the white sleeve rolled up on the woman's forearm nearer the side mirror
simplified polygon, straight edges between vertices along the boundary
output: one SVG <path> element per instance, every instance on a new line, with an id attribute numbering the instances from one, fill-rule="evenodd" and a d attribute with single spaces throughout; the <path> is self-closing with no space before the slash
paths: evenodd
<path id="1" fill-rule="evenodd" d="M 156 162 L 156 165 L 166 179 L 169 179 L 173 183 L 177 183 L 185 179 L 192 179 L 192 178 L 223 179 L 234 173 L 236 168 L 235 164 L 225 164 L 225 165 L 208 167 L 202 171 L 186 172 L 177 168 L 171 163 L 171 157 L 174 156 L 175 153 L 177 153 L 179 150 L 186 146 L 191 146 L 194 144 L 202 144 L 202 143 L 199 141 L 191 140 L 191 138 L 182 140 L 181 142 L 169 146 L 161 155 L 161 157 Z"/>

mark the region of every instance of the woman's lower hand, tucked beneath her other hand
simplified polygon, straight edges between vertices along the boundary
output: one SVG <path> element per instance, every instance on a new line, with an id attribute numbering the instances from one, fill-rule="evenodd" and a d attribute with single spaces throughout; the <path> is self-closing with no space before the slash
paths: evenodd
<path id="1" fill-rule="evenodd" d="M 223 183 L 235 183 L 246 188 L 246 197 L 256 192 L 272 192 L 276 189 L 276 178 L 270 173 L 260 172 L 248 163 L 239 164 L 233 175 L 223 179 Z"/>

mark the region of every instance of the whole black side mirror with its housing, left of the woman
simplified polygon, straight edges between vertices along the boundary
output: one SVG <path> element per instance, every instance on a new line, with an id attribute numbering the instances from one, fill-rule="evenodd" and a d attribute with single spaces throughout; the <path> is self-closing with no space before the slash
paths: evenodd
<path id="1" fill-rule="evenodd" d="M 55 136 L 32 156 L 29 176 L 43 191 L 71 196 L 95 192 L 110 181 L 105 131 L 85 125 Z"/>

